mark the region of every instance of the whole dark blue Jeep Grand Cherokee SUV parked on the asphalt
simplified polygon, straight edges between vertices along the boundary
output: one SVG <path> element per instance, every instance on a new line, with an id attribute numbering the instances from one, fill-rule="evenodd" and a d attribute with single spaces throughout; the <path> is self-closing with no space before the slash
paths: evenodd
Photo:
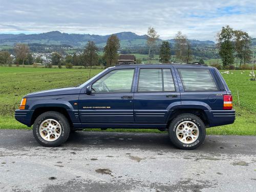
<path id="1" fill-rule="evenodd" d="M 26 95 L 15 118 L 33 125 L 35 139 L 58 146 L 83 128 L 168 131 L 194 149 L 205 128 L 235 120 L 232 96 L 216 68 L 201 65 L 126 65 L 105 69 L 79 87 Z"/>

